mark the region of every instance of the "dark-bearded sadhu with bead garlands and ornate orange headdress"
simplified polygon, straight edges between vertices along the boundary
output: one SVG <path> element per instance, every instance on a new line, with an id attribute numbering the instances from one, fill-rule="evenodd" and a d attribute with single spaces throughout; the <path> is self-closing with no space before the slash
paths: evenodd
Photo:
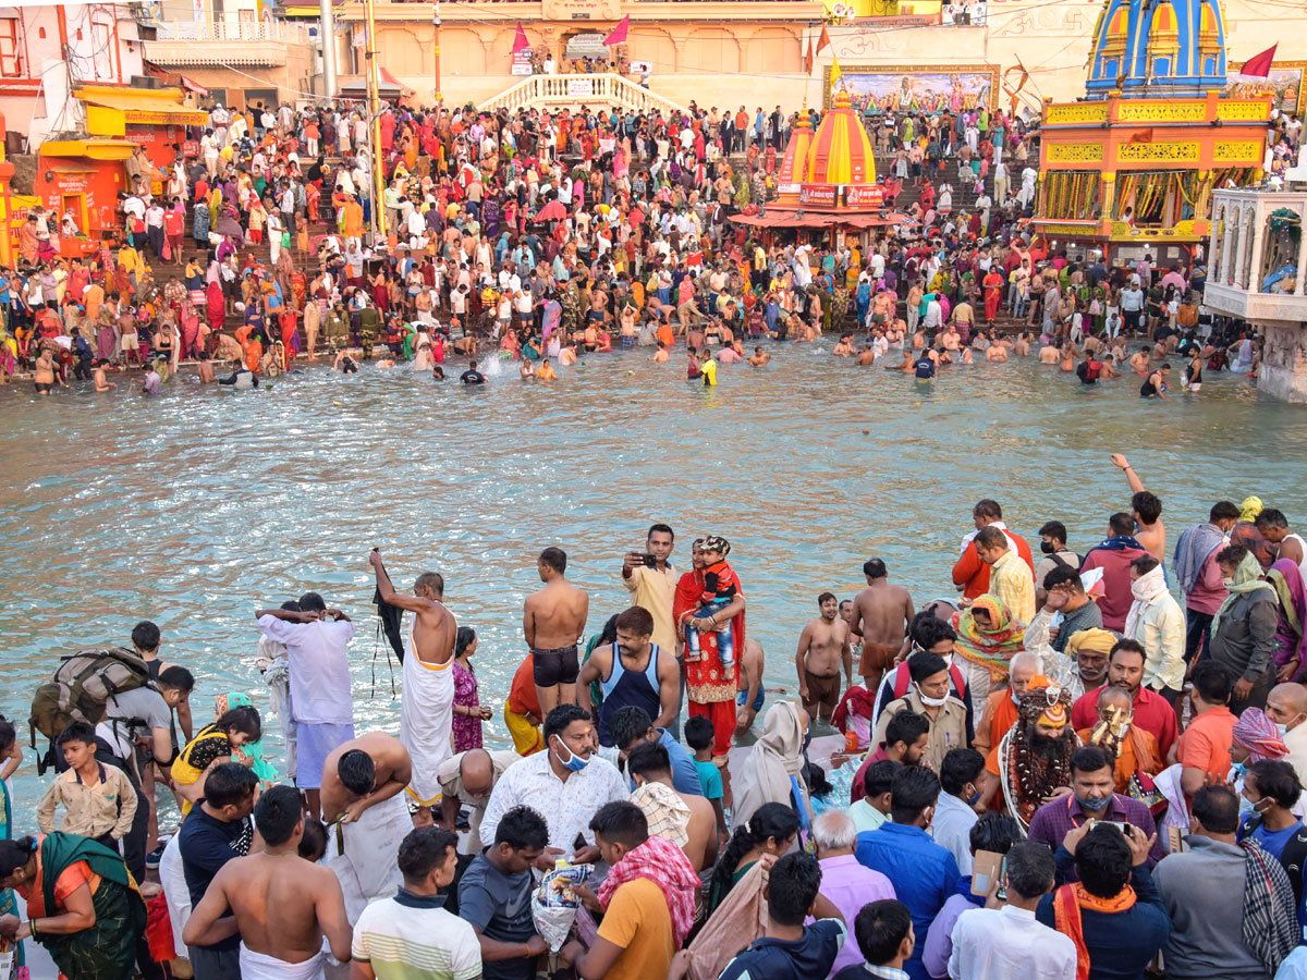
<path id="1" fill-rule="evenodd" d="M 1002 806 L 1022 831 L 1029 830 L 1035 810 L 1070 787 L 1070 754 L 1080 745 L 1070 727 L 1070 703 L 1065 687 L 1026 691 L 1017 723 L 991 755 L 999 771 L 987 767 L 982 801 L 988 805 L 1001 792 Z"/>

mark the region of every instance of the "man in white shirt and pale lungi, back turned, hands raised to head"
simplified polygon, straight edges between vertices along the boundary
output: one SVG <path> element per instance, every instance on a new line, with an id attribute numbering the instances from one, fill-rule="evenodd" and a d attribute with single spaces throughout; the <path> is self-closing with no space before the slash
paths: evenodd
<path id="1" fill-rule="evenodd" d="M 320 809 L 323 763 L 332 749 L 354 737 L 354 699 L 349 678 L 349 642 L 354 623 L 328 609 L 316 592 L 299 598 L 299 612 L 260 609 L 259 631 L 284 643 L 290 661 L 290 704 L 295 725 L 295 785 L 308 796 L 308 811 Z"/>

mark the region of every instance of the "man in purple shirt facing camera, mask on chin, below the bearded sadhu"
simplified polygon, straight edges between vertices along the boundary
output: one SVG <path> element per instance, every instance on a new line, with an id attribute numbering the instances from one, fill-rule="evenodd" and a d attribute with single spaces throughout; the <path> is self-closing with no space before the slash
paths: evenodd
<path id="1" fill-rule="evenodd" d="M 1086 745 L 1070 755 L 1070 793 L 1044 804 L 1030 818 L 1029 839 L 1042 840 L 1053 851 L 1059 885 L 1080 881 L 1074 856 L 1063 848 L 1063 839 L 1074 827 L 1089 821 L 1132 823 L 1145 836 L 1157 835 L 1148 806 L 1114 792 L 1115 785 L 1115 762 L 1097 745 Z M 1162 841 L 1154 840 L 1148 856 L 1149 868 L 1165 856 Z"/>

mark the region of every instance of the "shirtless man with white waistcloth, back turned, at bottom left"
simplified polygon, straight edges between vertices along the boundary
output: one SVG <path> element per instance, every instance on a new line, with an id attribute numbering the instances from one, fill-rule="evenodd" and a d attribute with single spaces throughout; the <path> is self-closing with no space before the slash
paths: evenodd
<path id="1" fill-rule="evenodd" d="M 191 912 L 183 938 L 209 946 L 239 934 L 244 980 L 320 980 L 323 937 L 336 959 L 349 959 L 352 930 L 340 882 L 299 857 L 305 818 L 294 788 L 267 791 L 255 804 L 254 821 L 264 849 L 222 865 Z"/>

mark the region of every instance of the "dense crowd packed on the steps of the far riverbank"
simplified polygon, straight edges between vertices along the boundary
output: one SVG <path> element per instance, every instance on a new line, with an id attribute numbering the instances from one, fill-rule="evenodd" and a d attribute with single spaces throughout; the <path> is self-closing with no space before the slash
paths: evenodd
<path id="1" fill-rule="evenodd" d="M 1163 395 L 1151 375 L 1182 340 L 1201 359 L 1187 368 L 1195 391 L 1202 368 L 1256 370 L 1251 331 L 1201 307 L 1201 260 L 1108 268 L 1031 230 L 1038 129 L 1019 115 L 869 116 L 886 200 L 914 191 L 908 223 L 765 242 L 731 218 L 775 197 L 796 120 L 779 106 L 401 107 L 380 116 L 375 161 L 357 110 L 217 105 L 193 155 L 179 145 L 167 166 L 144 149 L 128 161 L 116 248 L 63 257 L 60 237 L 80 233 L 72 212 L 37 208 L 22 225 L 18 267 L 0 270 L 0 382 L 31 371 L 41 395 L 69 375 L 107 391 L 115 368 L 140 366 L 142 391 L 158 393 L 195 359 L 200 382 L 244 388 L 301 354 L 353 372 L 379 348 L 380 363 L 442 379 L 448 357 L 502 357 L 548 380 L 586 353 L 648 346 L 664 359 L 684 342 L 690 376 L 715 383 L 716 363 L 745 359 L 745 344 L 846 332 L 865 333 L 859 363 L 906 349 L 894 367 L 919 376 L 979 351 L 1005 359 L 1033 335 L 1067 370 L 1094 359 L 1094 379 L 1121 367 L 1125 338 L 1146 337 L 1149 358 L 1132 368 Z M 966 189 L 957 205 L 954 183 Z M 1000 337 L 1000 319 L 1030 335 Z M 720 358 L 701 371 L 712 348 Z"/>

